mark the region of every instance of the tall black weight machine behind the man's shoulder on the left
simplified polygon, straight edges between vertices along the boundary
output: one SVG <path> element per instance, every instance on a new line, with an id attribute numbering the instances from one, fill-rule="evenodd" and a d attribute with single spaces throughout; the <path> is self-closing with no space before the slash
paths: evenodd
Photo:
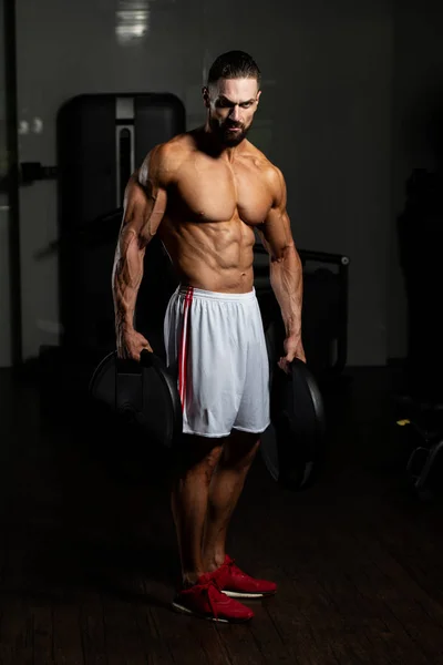
<path id="1" fill-rule="evenodd" d="M 59 310 L 61 342 L 66 348 L 85 354 L 99 351 L 100 357 L 115 348 L 110 275 L 124 188 L 155 145 L 184 131 L 185 106 L 171 93 L 80 94 L 60 108 L 58 236 L 63 242 L 58 247 Z M 111 213 L 113 209 L 115 214 Z M 102 219 L 101 239 L 93 222 L 97 218 Z M 100 242 L 72 242 L 75 234 L 79 241 L 86 241 L 87 226 L 87 239 L 95 236 Z M 153 257 L 150 258 L 152 264 Z M 148 285 L 155 296 L 155 285 L 152 280 Z M 143 296 L 140 301 L 144 303 Z M 141 315 L 143 311 L 137 313 L 137 327 L 144 334 Z"/>

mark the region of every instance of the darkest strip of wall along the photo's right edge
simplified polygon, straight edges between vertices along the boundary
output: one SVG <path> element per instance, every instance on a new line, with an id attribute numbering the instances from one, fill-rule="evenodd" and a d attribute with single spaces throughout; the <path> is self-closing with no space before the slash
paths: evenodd
<path id="1" fill-rule="evenodd" d="M 443 127 L 443 4 L 440 0 L 403 0 L 395 4 L 393 79 L 393 219 L 405 204 L 405 183 L 413 168 L 433 171 L 433 146 L 440 116 Z M 441 164 L 440 164 L 441 167 Z M 406 299 L 392 225 L 389 262 L 388 357 L 406 355 Z"/>

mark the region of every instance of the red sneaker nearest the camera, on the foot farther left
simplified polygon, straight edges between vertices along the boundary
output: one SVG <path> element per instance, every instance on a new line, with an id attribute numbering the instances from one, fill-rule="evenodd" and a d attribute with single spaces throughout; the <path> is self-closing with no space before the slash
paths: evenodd
<path id="1" fill-rule="evenodd" d="M 226 597 L 209 573 L 200 575 L 194 586 L 179 591 L 172 605 L 176 612 L 224 623 L 240 623 L 254 616 L 249 607 Z"/>

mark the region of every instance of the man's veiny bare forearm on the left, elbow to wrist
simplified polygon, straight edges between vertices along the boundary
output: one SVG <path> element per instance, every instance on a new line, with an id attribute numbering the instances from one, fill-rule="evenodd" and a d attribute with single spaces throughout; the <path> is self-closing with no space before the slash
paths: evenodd
<path id="1" fill-rule="evenodd" d="M 134 233 L 120 239 L 112 273 L 115 330 L 117 338 L 134 327 L 134 313 L 143 279 L 144 247 Z"/>

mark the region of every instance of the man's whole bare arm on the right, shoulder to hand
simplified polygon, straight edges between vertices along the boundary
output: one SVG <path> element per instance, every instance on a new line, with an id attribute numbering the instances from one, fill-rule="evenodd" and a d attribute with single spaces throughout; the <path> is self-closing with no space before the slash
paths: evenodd
<path id="1" fill-rule="evenodd" d="M 286 329 L 285 354 L 279 367 L 287 371 L 293 358 L 306 362 L 301 339 L 301 305 L 303 296 L 302 265 L 292 238 L 286 209 L 287 192 L 281 172 L 270 174 L 272 207 L 258 233 L 270 257 L 270 284 L 280 306 Z"/>

